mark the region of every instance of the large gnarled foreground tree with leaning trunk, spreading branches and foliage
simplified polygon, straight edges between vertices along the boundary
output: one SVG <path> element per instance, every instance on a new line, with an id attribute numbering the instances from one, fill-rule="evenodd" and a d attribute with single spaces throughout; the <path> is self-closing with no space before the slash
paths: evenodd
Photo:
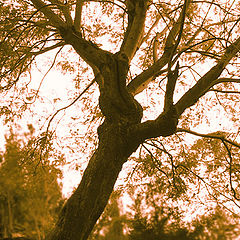
<path id="1" fill-rule="evenodd" d="M 98 124 L 85 138 L 97 147 L 87 148 L 92 155 L 82 180 L 46 239 L 87 239 L 123 164 L 136 151 L 140 165 L 151 162 L 146 177 L 157 184 L 152 177 L 157 169 L 166 180 L 160 190 L 171 198 L 197 187 L 194 194 L 215 199 L 232 214 L 239 211 L 237 2 L 9 0 L 0 9 L 6 122 L 37 105 L 46 75 L 55 68 L 71 73 L 74 87 L 68 104 L 54 108 L 45 123 L 40 156 L 56 117 L 77 102 L 71 120 L 77 125 L 83 113 L 86 124 Z M 30 87 L 43 56 L 45 74 Z M 78 130 L 72 133 L 69 142 L 81 142 Z"/>

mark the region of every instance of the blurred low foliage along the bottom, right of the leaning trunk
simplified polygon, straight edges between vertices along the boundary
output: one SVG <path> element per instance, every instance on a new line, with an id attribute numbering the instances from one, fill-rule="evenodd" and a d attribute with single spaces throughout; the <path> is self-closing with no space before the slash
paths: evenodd
<path id="1" fill-rule="evenodd" d="M 148 188 L 148 191 L 154 190 Z M 119 193 L 113 193 L 89 239 L 231 240 L 240 234 L 239 218 L 229 215 L 220 206 L 204 215 L 186 220 L 184 212 L 178 207 L 171 207 L 167 202 L 156 204 L 151 199 L 152 205 L 146 205 L 146 199 L 141 194 L 132 200 L 131 211 L 122 209 L 120 202 L 124 200 Z"/>

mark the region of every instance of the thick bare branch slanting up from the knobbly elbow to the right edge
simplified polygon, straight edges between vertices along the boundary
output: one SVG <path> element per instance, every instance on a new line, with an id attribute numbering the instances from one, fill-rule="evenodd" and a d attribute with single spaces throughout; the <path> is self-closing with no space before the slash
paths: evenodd
<path id="1" fill-rule="evenodd" d="M 213 85 L 220 83 L 219 76 L 225 69 L 226 65 L 240 51 L 240 38 L 232 43 L 225 54 L 220 58 L 218 63 L 212 67 L 200 80 L 190 88 L 177 102 L 176 108 L 178 114 L 181 115 L 184 110 L 194 105 L 200 97 L 202 97 Z"/>

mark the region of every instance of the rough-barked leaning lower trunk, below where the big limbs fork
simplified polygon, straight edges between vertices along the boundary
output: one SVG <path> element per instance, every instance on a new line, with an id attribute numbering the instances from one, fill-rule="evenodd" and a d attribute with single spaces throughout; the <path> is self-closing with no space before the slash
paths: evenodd
<path id="1" fill-rule="evenodd" d="M 138 147 L 129 143 L 124 126 L 105 123 L 99 128 L 99 146 L 82 181 L 64 206 L 59 221 L 48 239 L 87 239 L 107 205 L 123 163 Z"/>

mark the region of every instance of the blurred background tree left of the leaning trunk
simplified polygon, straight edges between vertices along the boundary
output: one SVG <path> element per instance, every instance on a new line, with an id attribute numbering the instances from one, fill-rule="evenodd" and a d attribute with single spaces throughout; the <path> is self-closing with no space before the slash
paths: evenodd
<path id="1" fill-rule="evenodd" d="M 61 172 L 49 163 L 51 147 L 39 159 L 32 134 L 28 143 L 13 132 L 6 137 L 0 167 L 1 238 L 44 239 L 63 202 Z"/>

